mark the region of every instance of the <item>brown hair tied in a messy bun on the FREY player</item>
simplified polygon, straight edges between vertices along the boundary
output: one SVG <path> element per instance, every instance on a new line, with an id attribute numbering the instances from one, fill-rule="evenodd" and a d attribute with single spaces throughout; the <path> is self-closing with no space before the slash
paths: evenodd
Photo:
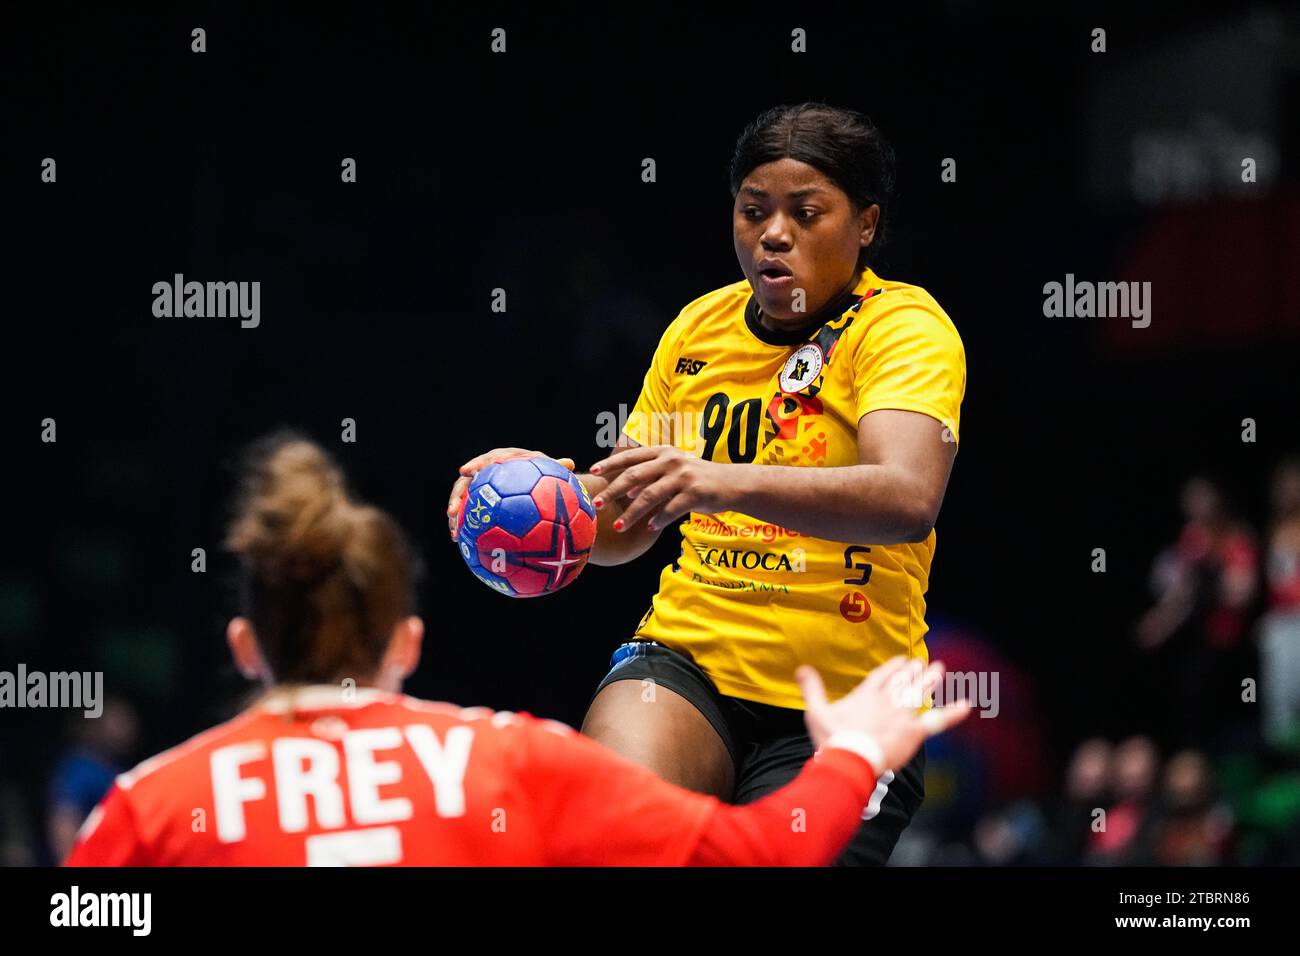
<path id="1" fill-rule="evenodd" d="M 413 613 L 419 567 L 400 527 L 355 501 L 338 464 L 295 433 L 246 453 L 226 548 L 277 683 L 369 680 Z"/>

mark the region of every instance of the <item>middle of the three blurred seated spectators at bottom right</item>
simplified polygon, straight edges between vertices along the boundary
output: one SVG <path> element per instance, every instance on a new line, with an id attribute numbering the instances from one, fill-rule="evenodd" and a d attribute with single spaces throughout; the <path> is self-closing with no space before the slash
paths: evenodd
<path id="1" fill-rule="evenodd" d="M 1160 754 L 1150 737 L 1135 736 L 1115 748 L 1110 762 L 1114 803 L 1104 826 L 1089 831 L 1083 862 L 1128 866 L 1150 861 L 1154 790 Z"/>

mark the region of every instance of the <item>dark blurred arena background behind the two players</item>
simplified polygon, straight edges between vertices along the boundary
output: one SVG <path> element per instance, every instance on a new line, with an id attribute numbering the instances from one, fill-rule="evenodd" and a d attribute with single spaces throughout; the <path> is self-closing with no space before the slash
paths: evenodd
<path id="1" fill-rule="evenodd" d="M 1294 8 L 92 5 L 5 33 L 0 670 L 100 671 L 105 711 L 0 711 L 4 865 L 62 857 L 95 767 L 248 700 L 221 541 L 239 450 L 281 425 L 420 548 L 408 692 L 581 723 L 676 535 L 510 601 L 447 489 L 494 446 L 606 454 L 666 325 L 741 278 L 736 137 L 805 100 L 894 147 L 876 271 L 935 295 L 968 368 L 927 640 L 998 713 L 928 744 L 890 865 L 1300 862 Z M 259 324 L 156 317 L 177 273 L 260 282 Z M 1149 284 L 1148 317 L 1053 315 L 1084 281 Z"/>

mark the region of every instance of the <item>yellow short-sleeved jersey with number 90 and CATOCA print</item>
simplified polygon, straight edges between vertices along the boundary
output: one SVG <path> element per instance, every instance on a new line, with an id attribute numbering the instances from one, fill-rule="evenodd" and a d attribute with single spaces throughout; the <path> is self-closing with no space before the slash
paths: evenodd
<path id="1" fill-rule="evenodd" d="M 863 415 L 904 408 L 957 441 L 965 350 L 924 289 L 864 269 L 810 324 L 763 328 L 744 281 L 696 299 L 664 332 L 624 433 L 714 462 L 826 468 L 859 463 Z M 636 636 L 688 654 L 727 696 L 802 709 L 802 663 L 835 700 L 896 654 L 928 659 L 933 532 L 827 541 L 724 511 L 689 515 L 681 537 Z"/>

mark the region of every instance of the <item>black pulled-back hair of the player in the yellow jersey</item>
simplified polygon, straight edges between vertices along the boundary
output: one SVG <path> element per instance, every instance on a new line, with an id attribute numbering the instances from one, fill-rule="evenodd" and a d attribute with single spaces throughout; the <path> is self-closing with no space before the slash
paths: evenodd
<path id="1" fill-rule="evenodd" d="M 857 111 L 824 103 L 774 107 L 736 140 L 732 199 L 755 168 L 783 159 L 807 163 L 842 189 L 858 209 L 880 207 L 875 237 L 858 254 L 858 268 L 867 265 L 885 241 L 894 187 L 894 152 L 880 130 Z"/>

